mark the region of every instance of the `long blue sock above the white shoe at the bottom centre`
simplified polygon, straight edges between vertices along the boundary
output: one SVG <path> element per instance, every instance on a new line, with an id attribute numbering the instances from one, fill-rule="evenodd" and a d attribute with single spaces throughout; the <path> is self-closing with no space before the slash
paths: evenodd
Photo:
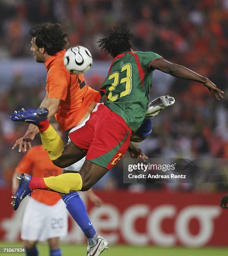
<path id="1" fill-rule="evenodd" d="M 83 231 L 89 241 L 89 244 L 96 244 L 96 238 L 94 238 L 96 231 L 91 223 L 88 213 L 86 212 L 86 206 L 81 200 L 78 192 L 72 191 L 69 194 L 64 195 L 62 199 L 66 204 L 66 209 L 70 212 L 73 219 Z"/>

